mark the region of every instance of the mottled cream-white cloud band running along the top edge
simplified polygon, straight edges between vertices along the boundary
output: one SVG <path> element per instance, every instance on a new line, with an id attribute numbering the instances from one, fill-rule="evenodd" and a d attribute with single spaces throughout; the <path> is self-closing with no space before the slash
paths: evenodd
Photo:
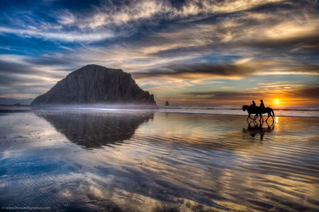
<path id="1" fill-rule="evenodd" d="M 61 25 L 79 28 L 101 28 L 106 25 L 128 25 L 143 20 L 174 20 L 176 18 L 194 18 L 198 14 L 233 13 L 247 10 L 281 0 L 257 1 L 103 1 L 98 6 L 90 6 L 85 13 L 63 9 L 54 13 Z M 194 17 L 193 17 L 194 16 Z"/>

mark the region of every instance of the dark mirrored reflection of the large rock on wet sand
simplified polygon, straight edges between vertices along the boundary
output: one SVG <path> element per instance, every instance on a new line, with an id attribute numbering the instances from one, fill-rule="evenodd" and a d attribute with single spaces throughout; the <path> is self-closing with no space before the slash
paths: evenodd
<path id="1" fill-rule="evenodd" d="M 50 122 L 69 141 L 86 148 L 128 140 L 140 124 L 153 116 L 153 113 L 38 112 L 38 117 Z"/>

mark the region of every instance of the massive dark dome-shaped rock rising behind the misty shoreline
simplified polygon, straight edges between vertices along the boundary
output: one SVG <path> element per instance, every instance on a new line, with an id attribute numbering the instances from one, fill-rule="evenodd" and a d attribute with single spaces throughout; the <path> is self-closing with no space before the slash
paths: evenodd
<path id="1" fill-rule="evenodd" d="M 142 90 L 130 73 L 87 65 L 69 73 L 31 105 L 137 104 L 156 105 L 154 95 Z"/>

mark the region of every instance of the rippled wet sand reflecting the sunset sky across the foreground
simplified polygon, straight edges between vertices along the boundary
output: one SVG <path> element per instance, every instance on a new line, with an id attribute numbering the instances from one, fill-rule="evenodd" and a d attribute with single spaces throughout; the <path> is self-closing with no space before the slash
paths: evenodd
<path id="1" fill-rule="evenodd" d="M 246 118 L 2 113 L 0 207 L 319 211 L 319 119 Z"/>

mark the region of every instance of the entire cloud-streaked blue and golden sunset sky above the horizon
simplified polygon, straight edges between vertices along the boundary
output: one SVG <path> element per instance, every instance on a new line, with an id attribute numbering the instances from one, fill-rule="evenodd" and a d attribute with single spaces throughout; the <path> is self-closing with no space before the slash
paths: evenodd
<path id="1" fill-rule="evenodd" d="M 157 105 L 319 105 L 318 12 L 318 0 L 1 0 L 0 98 L 97 64 Z"/>

